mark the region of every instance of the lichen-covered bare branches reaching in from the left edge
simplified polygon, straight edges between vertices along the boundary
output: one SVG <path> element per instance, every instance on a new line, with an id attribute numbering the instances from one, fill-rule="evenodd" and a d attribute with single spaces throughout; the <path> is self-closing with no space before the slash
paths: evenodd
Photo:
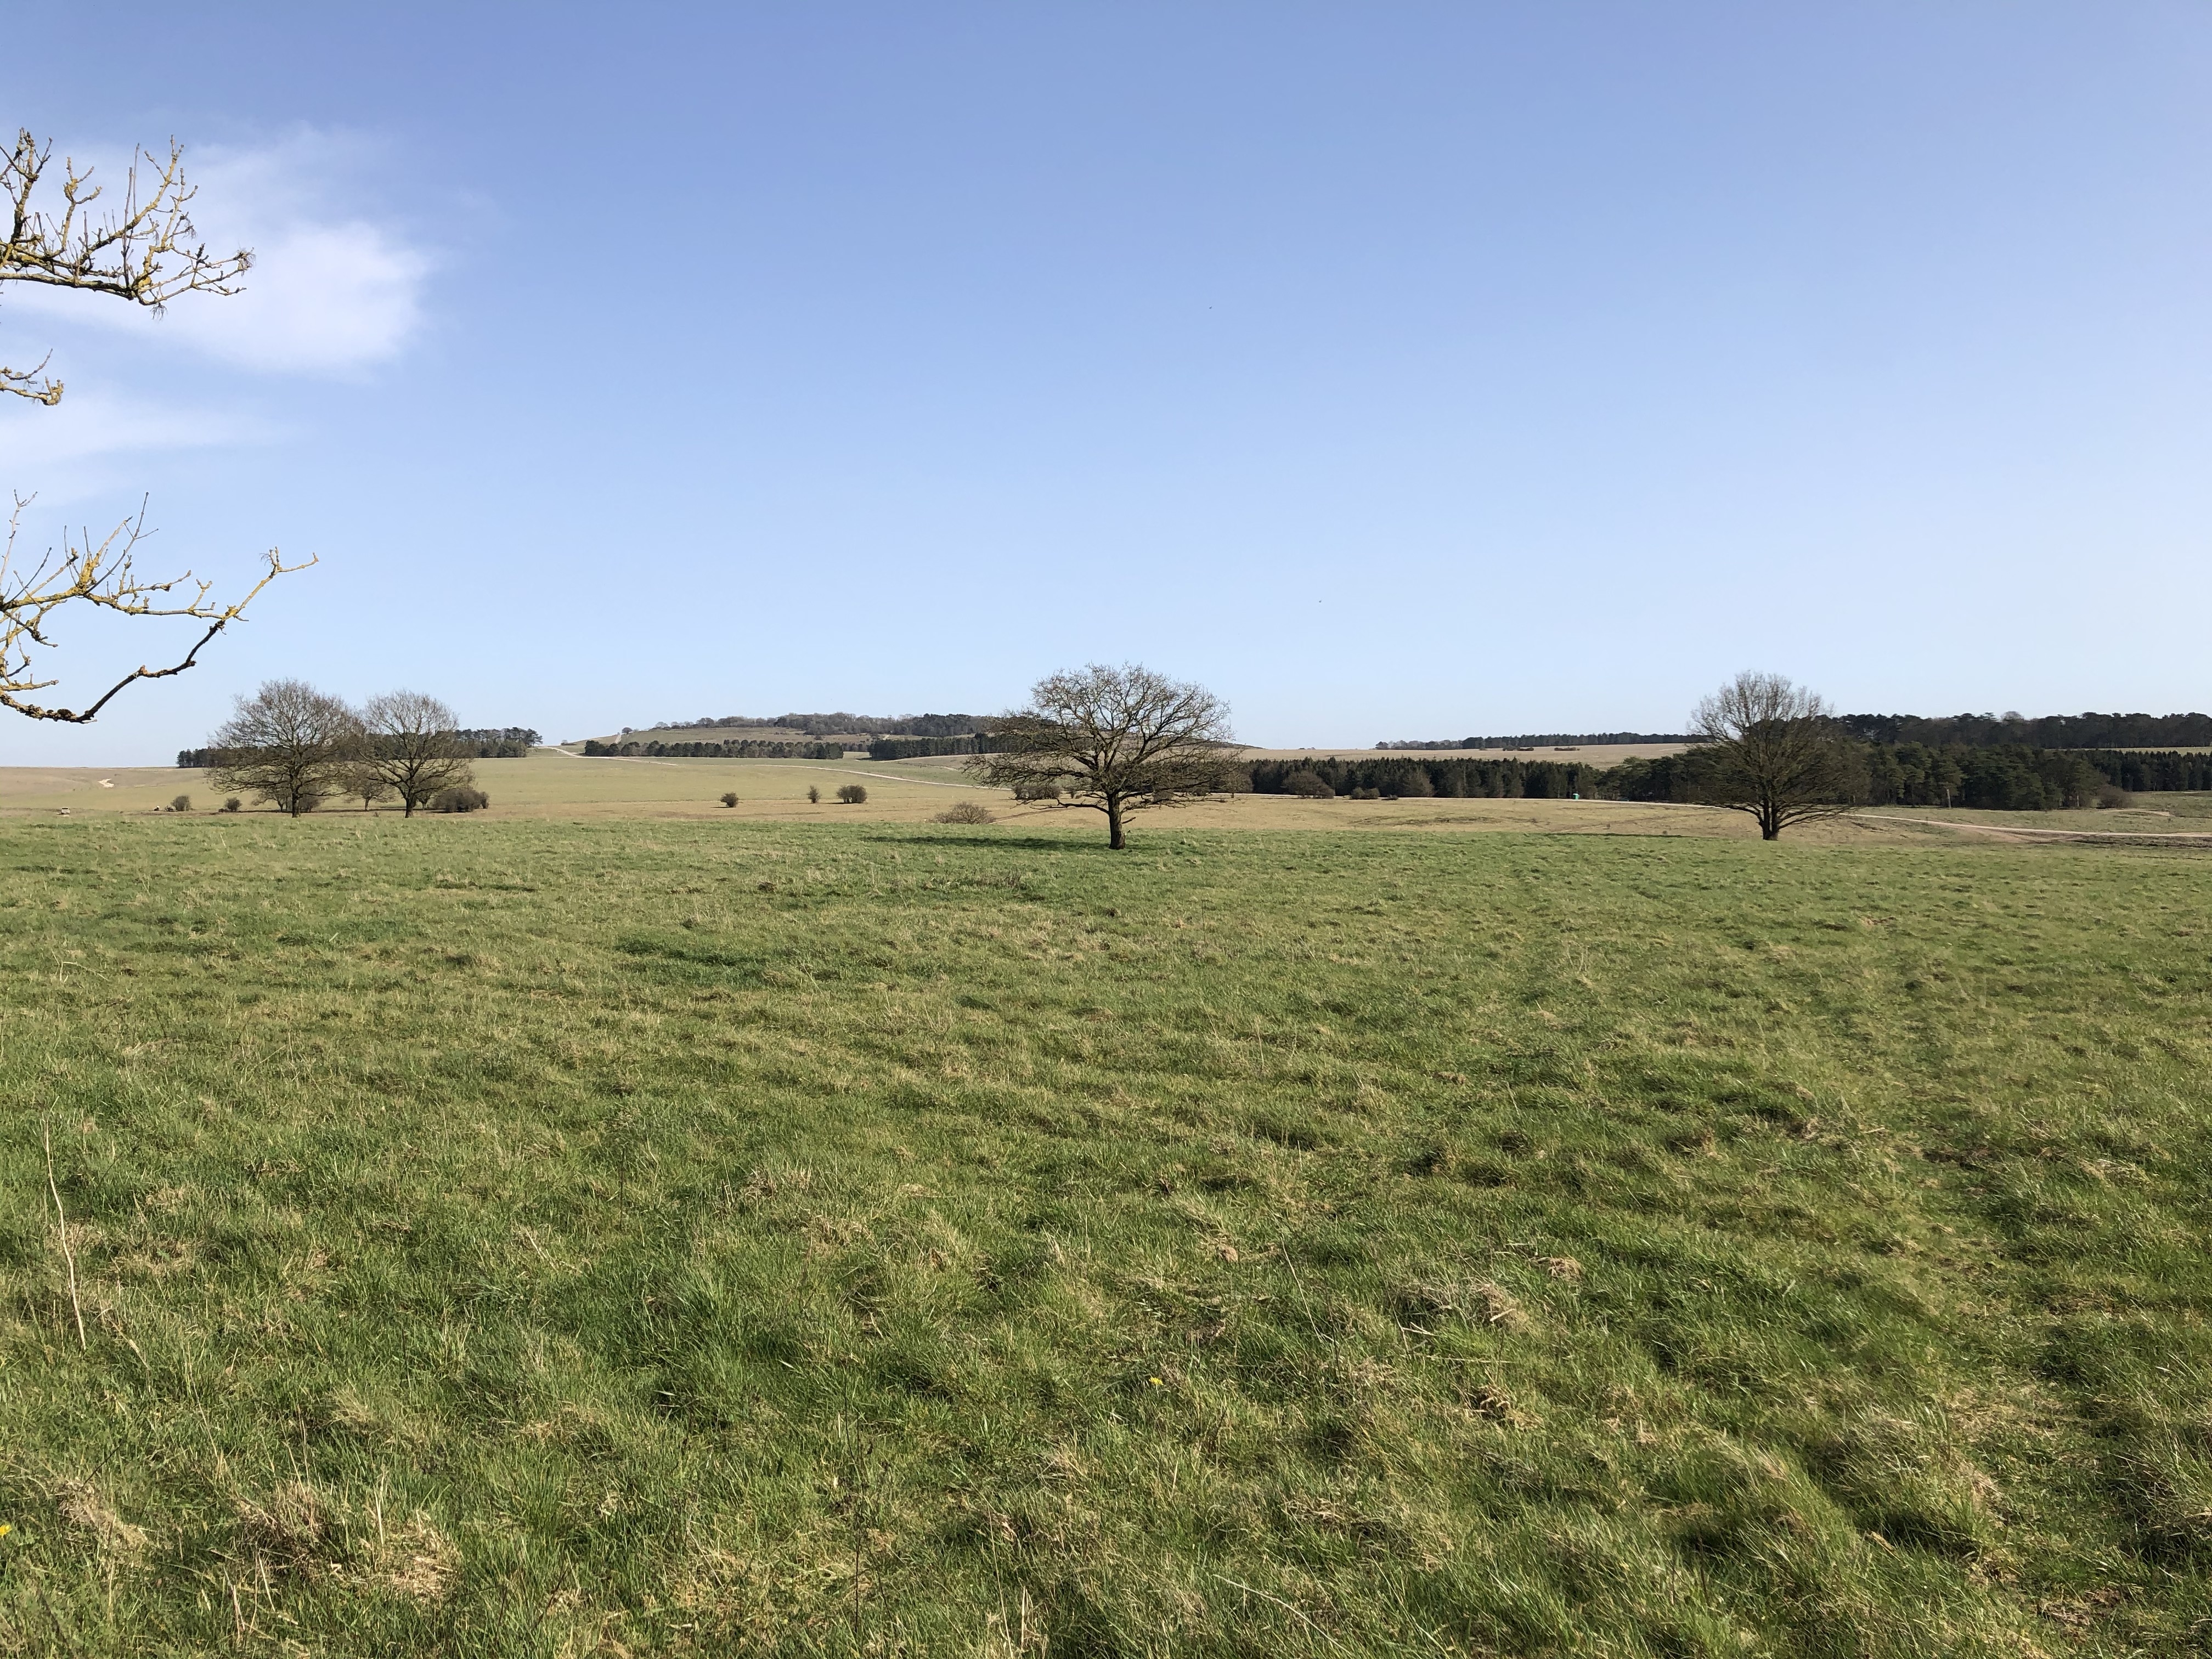
<path id="1" fill-rule="evenodd" d="M 241 248 L 217 257 L 195 241 L 199 232 L 192 230 L 188 212 L 195 192 L 184 179 L 184 153 L 175 144 L 166 161 L 144 153 L 150 170 L 144 192 L 133 159 L 115 212 L 95 208 L 102 186 L 91 181 L 91 168 L 80 173 L 75 161 L 64 161 L 62 181 L 49 184 L 42 195 L 40 184 L 46 181 L 51 157 L 53 148 L 40 146 L 31 133 L 20 133 L 15 148 L 0 157 L 0 195 L 7 197 L 9 215 L 7 239 L 0 241 L 0 283 L 69 288 L 148 310 L 161 310 L 179 294 L 239 292 L 237 279 L 252 265 L 252 252 Z M 29 369 L 0 365 L 0 392 L 44 403 L 49 409 L 62 400 L 62 383 L 46 376 L 44 363 Z M 144 504 L 106 540 L 93 542 L 91 533 L 75 540 L 64 535 L 60 549 L 31 564 L 15 553 L 24 507 L 29 500 L 15 495 L 7 546 L 0 549 L 0 706 L 40 721 L 84 726 L 124 686 L 181 675 L 197 661 L 201 646 L 237 622 L 261 588 L 314 562 L 283 564 L 270 551 L 268 573 L 246 597 L 217 604 L 208 597 L 210 584 L 195 582 L 190 571 L 166 580 L 137 573 L 133 555 L 148 533 Z M 38 677 L 31 648 L 53 648 L 55 613 L 84 611 L 108 611 L 119 617 L 188 617 L 204 622 L 206 633 L 179 661 L 168 668 L 142 664 L 82 710 L 33 701 L 33 692 L 58 681 Z"/>

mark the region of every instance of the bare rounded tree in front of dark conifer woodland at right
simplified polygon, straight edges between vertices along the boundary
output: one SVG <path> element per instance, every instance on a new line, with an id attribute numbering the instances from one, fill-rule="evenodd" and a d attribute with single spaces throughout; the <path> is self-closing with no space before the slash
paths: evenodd
<path id="1" fill-rule="evenodd" d="M 1699 799 L 1750 812 L 1765 841 L 1851 810 L 1843 734 L 1827 703 L 1785 675 L 1736 675 L 1697 706 L 1692 730 Z"/>

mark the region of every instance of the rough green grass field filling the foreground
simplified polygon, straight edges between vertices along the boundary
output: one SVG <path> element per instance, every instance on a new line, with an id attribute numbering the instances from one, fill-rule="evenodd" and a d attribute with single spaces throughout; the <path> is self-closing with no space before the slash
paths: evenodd
<path id="1" fill-rule="evenodd" d="M 2212 1630 L 2203 856 L 77 818 L 0 872 L 0 1652 Z"/>

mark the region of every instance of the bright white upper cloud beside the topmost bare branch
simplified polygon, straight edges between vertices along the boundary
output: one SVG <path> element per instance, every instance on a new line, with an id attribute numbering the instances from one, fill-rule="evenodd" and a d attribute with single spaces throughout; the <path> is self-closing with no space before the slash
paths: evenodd
<path id="1" fill-rule="evenodd" d="M 352 374 L 396 358 L 422 327 L 434 259 L 400 226 L 356 210 L 369 161 L 369 146 L 323 133 L 186 150 L 201 239 L 210 250 L 254 250 L 243 292 L 186 294 L 157 316 L 104 296 L 11 285 L 11 349 L 27 356 L 33 332 L 97 327 L 259 374 Z M 122 170 L 104 164 L 102 177 L 119 190 Z M 55 372 L 69 378 L 60 358 Z"/>

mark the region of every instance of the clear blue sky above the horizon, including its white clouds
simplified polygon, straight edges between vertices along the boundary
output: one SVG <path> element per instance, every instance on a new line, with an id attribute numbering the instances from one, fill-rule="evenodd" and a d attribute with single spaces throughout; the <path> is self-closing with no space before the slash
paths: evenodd
<path id="1" fill-rule="evenodd" d="M 316 553 L 234 692 L 553 739 L 1139 659 L 1263 743 L 2212 703 L 2201 4 L 64 9 L 246 296 L 0 290 L 27 542 Z M 64 635 L 69 688 L 146 648 Z"/>

